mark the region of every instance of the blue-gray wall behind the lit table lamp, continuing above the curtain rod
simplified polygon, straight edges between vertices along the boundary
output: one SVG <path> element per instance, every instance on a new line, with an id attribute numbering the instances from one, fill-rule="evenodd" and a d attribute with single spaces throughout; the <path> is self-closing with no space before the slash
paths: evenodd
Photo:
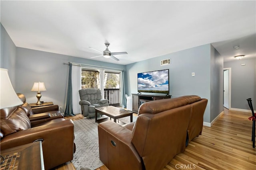
<path id="1" fill-rule="evenodd" d="M 68 55 L 60 55 L 17 47 L 16 92 L 23 93 L 28 103 L 36 102 L 36 92 L 31 92 L 34 82 L 44 82 L 46 90 L 42 92 L 41 101 L 54 102 L 64 108 L 68 65 L 74 62 L 124 69 L 124 65 L 88 60 Z"/>

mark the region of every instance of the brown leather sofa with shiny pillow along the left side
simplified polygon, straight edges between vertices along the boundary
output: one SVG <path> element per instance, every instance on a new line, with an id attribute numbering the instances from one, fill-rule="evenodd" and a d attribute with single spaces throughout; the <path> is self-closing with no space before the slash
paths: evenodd
<path id="1" fill-rule="evenodd" d="M 32 109 L 23 94 L 17 95 L 24 102 L 21 106 L 0 110 L 0 149 L 40 140 L 46 170 L 72 160 L 75 151 L 73 121 L 63 119 L 58 105 Z"/>

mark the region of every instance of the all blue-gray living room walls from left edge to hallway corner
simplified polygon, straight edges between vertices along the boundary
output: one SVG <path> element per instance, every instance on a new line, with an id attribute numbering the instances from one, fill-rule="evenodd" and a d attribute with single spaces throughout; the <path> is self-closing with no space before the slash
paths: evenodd
<path id="1" fill-rule="evenodd" d="M 64 107 L 68 65 L 63 63 L 74 62 L 126 70 L 126 94 L 129 95 L 137 93 L 138 72 L 169 69 L 172 98 L 198 95 L 208 99 L 204 114 L 204 121 L 208 123 L 223 109 L 223 93 L 219 94 L 223 92 L 223 58 L 210 44 L 123 66 L 15 47 L 2 28 L 1 25 L 1 67 L 11 69 L 15 91 L 25 94 L 29 103 L 36 102 L 35 92 L 30 91 L 33 83 L 42 81 L 47 91 L 42 92 L 41 100 Z M 171 59 L 171 64 L 160 66 L 163 59 Z M 195 76 L 191 75 L 192 72 Z"/>

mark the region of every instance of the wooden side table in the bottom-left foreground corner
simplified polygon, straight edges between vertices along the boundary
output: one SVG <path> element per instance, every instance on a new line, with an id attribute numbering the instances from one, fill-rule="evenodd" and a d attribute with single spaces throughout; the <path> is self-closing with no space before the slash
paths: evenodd
<path id="1" fill-rule="evenodd" d="M 42 142 L 1 150 L 1 170 L 44 170 Z"/>

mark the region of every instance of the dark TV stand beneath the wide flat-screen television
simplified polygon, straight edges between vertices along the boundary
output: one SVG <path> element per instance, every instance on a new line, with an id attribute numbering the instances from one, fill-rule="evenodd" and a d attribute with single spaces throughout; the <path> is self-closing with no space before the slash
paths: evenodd
<path id="1" fill-rule="evenodd" d="M 171 98 L 170 94 L 132 94 L 132 111 L 138 112 L 140 105 L 153 100 Z"/>

